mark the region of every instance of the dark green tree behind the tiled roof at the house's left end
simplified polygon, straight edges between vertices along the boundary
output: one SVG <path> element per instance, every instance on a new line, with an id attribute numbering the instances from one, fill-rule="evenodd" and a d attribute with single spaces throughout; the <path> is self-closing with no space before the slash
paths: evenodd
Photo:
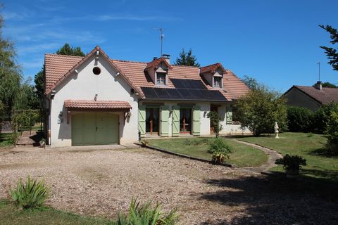
<path id="1" fill-rule="evenodd" d="M 58 49 L 56 54 L 67 56 L 84 56 L 84 53 L 80 47 L 72 47 L 68 43 L 65 43 L 60 49 Z M 44 72 L 44 65 L 42 65 L 42 69 L 34 77 L 35 89 L 39 99 L 42 99 L 42 96 L 44 96 Z"/>

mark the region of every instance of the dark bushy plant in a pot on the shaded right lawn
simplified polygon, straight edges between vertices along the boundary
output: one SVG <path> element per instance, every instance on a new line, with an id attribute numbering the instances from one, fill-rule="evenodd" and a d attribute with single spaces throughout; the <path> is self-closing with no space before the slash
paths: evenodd
<path id="1" fill-rule="evenodd" d="M 306 166 L 306 159 L 299 155 L 285 155 L 283 158 L 275 161 L 277 165 L 283 165 L 283 168 L 287 172 L 288 178 L 296 178 L 299 175 L 299 169 L 301 166 Z"/>

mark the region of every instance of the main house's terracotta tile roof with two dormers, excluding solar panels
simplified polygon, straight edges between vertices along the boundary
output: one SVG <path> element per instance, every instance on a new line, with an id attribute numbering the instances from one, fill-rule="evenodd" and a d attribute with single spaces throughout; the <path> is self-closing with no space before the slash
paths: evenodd
<path id="1" fill-rule="evenodd" d="M 99 46 L 89 54 L 94 53 L 96 50 L 101 51 Z M 104 56 L 106 53 L 101 51 Z M 85 57 L 77 56 L 61 56 L 56 54 L 46 54 L 45 55 L 45 65 L 46 65 L 46 94 L 49 94 L 52 89 L 54 89 L 59 83 L 65 79 L 71 72 L 73 72 L 81 63 L 89 57 L 89 54 Z M 108 59 L 108 56 L 106 56 Z M 162 61 L 168 62 L 164 58 L 158 58 L 151 61 L 150 63 L 144 62 L 134 62 L 127 60 L 111 60 L 111 65 L 120 72 L 124 79 L 132 86 L 135 91 L 137 91 L 142 98 L 144 98 L 144 93 L 142 87 L 156 87 L 154 82 L 151 80 L 151 77 L 145 71 L 146 68 L 151 68 Z M 155 63 L 154 63 L 155 62 Z M 168 64 L 169 65 L 169 64 Z M 206 80 L 200 75 L 200 68 L 194 66 L 184 66 L 184 65 L 169 65 L 170 70 L 168 70 L 168 84 L 160 88 L 175 89 L 175 86 L 170 79 L 194 79 L 203 82 L 206 86 L 206 89 L 215 90 L 213 87 L 206 82 Z M 217 70 L 217 68 L 223 66 L 220 63 L 215 63 L 204 68 L 208 68 L 208 71 Z M 202 68 L 201 68 L 202 70 Z M 249 88 L 239 79 L 234 73 L 230 70 L 225 70 L 223 75 L 223 89 L 217 89 L 220 91 L 227 101 L 232 101 L 246 94 L 246 91 L 249 91 Z M 207 71 L 206 69 L 204 71 Z"/>

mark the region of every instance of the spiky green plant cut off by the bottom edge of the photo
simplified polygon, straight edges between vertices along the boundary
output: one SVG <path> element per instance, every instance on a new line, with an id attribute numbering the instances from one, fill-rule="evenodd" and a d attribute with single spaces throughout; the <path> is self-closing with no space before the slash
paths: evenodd
<path id="1" fill-rule="evenodd" d="M 175 225 L 177 224 L 177 210 L 163 215 L 161 204 L 151 207 L 151 201 L 140 205 L 136 198 L 132 198 L 128 214 L 118 214 L 115 225 Z"/>

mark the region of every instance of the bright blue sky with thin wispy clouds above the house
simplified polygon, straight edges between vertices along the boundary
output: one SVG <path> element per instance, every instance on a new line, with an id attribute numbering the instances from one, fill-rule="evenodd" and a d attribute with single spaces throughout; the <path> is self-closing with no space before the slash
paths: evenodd
<path id="1" fill-rule="evenodd" d="M 338 28 L 338 1 L 4 1 L 4 36 L 13 39 L 25 77 L 65 42 L 84 53 L 101 46 L 110 58 L 172 62 L 192 48 L 201 65 L 222 63 L 236 75 L 255 77 L 277 91 L 318 80 L 338 84 L 323 49 Z"/>

